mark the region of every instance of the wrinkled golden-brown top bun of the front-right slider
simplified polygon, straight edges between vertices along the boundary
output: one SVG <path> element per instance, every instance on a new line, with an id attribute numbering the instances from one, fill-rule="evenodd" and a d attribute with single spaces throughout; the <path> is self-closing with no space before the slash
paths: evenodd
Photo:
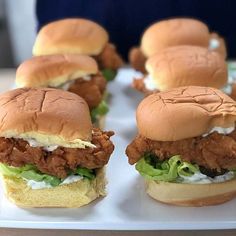
<path id="1" fill-rule="evenodd" d="M 233 127 L 236 102 L 209 87 L 181 87 L 144 98 L 136 113 L 139 133 L 157 141 L 176 141 Z"/>

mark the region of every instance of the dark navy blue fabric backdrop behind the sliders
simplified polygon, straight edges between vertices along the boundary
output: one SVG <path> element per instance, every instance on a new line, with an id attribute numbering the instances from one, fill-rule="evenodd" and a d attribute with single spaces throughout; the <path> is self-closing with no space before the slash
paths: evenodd
<path id="1" fill-rule="evenodd" d="M 236 58 L 234 0 L 37 0 L 38 29 L 65 18 L 84 17 L 103 25 L 126 58 L 151 23 L 176 16 L 198 18 L 225 37 L 228 56 Z"/>

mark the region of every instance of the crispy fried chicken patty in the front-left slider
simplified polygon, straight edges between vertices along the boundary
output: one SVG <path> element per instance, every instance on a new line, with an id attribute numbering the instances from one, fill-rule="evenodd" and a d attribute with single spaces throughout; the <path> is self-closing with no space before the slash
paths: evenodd
<path id="1" fill-rule="evenodd" d="M 52 152 L 43 147 L 31 147 L 27 141 L 15 138 L 0 138 L 0 162 L 14 167 L 35 165 L 41 172 L 65 178 L 76 167 L 101 168 L 109 161 L 114 150 L 110 137 L 112 131 L 93 129 L 92 143 L 95 148 L 58 147 Z"/>

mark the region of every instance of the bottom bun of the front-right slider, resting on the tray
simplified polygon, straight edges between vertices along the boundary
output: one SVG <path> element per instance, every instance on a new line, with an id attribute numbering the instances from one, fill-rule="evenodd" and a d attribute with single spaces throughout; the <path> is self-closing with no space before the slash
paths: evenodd
<path id="1" fill-rule="evenodd" d="M 213 184 L 180 184 L 146 180 L 146 191 L 152 198 L 171 205 L 217 205 L 236 197 L 236 179 Z"/>

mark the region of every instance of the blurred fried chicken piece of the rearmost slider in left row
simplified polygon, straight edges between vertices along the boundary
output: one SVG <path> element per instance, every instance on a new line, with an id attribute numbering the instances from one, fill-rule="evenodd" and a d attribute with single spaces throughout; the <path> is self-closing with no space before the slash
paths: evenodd
<path id="1" fill-rule="evenodd" d="M 103 51 L 94 58 L 101 69 L 117 70 L 124 64 L 121 56 L 116 51 L 116 47 L 111 43 L 106 44 Z"/>

